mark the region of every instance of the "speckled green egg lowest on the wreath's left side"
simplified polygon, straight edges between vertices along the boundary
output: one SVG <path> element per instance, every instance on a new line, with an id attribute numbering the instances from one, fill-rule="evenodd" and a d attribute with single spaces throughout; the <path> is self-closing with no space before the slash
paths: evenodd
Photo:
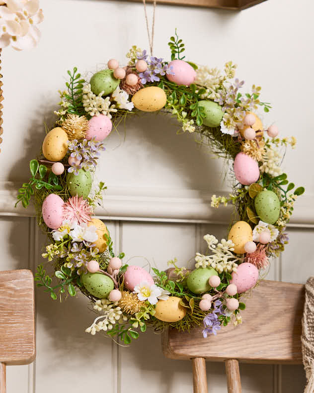
<path id="1" fill-rule="evenodd" d="M 114 289 L 111 278 L 101 273 L 82 274 L 81 281 L 86 291 L 98 299 L 104 299 Z"/>

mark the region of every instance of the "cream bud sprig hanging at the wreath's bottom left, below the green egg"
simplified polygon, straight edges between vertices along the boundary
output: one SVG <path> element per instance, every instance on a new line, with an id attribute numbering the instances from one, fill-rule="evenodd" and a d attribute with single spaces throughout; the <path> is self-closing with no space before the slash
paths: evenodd
<path id="1" fill-rule="evenodd" d="M 97 316 L 93 323 L 85 329 L 85 332 L 91 335 L 95 335 L 100 330 L 111 330 L 113 325 L 121 319 L 123 321 L 128 320 L 128 317 L 121 311 L 121 307 L 118 306 L 118 301 L 112 302 L 108 299 L 96 300 L 93 308 L 102 312 L 102 315 Z"/>

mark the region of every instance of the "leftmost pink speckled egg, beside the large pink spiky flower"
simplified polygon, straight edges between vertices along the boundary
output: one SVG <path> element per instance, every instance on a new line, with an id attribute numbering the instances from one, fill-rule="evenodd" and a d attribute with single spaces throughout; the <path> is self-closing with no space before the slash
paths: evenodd
<path id="1" fill-rule="evenodd" d="M 50 194 L 45 198 L 41 211 L 48 228 L 60 228 L 63 221 L 63 205 L 63 199 L 57 194 Z"/>

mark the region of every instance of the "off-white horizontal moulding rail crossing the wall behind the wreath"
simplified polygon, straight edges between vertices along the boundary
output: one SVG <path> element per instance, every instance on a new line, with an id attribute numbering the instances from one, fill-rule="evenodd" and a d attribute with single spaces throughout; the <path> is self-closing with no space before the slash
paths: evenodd
<path id="1" fill-rule="evenodd" d="M 35 216 L 33 206 L 14 207 L 19 183 L 0 182 L 0 215 Z M 96 216 L 106 219 L 134 221 L 199 222 L 225 224 L 231 221 L 232 207 L 219 209 L 210 206 L 212 193 L 198 190 L 160 188 L 109 187 L 98 207 Z M 314 227 L 314 195 L 305 195 L 296 202 L 290 225 Z"/>

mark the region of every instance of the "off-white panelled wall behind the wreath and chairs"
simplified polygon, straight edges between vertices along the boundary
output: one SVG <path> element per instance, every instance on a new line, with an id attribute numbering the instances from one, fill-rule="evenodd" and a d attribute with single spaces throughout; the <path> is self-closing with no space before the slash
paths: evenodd
<path id="1" fill-rule="evenodd" d="M 41 0 L 45 21 L 42 40 L 31 52 L 4 50 L 4 135 L 0 153 L 0 270 L 35 270 L 45 238 L 34 211 L 14 209 L 14 195 L 28 176 L 43 124 L 54 123 L 52 111 L 63 89 L 66 70 L 100 69 L 109 58 L 122 63 L 128 49 L 148 47 L 141 4 L 107 0 Z M 151 6 L 148 6 L 151 10 Z M 263 87 L 262 99 L 273 109 L 264 125 L 276 120 L 282 135 L 295 135 L 298 145 L 284 162 L 291 181 L 306 187 L 288 228 L 290 244 L 273 261 L 268 279 L 304 283 L 314 274 L 314 86 L 312 15 L 309 0 L 268 0 L 242 12 L 179 6 L 157 6 L 155 49 L 168 57 L 167 38 L 178 28 L 187 59 L 222 68 L 230 59 L 248 87 Z M 96 66 L 95 66 L 96 65 Z M 174 257 L 186 265 L 204 249 L 206 233 L 226 236 L 231 210 L 209 207 L 213 193 L 228 191 L 224 163 L 212 159 L 193 135 L 176 135 L 178 125 L 155 114 L 132 118 L 106 140 L 96 174 L 108 186 L 104 219 L 116 251 L 131 264 L 165 268 Z M 191 262 L 190 262 L 191 263 Z M 47 268 L 49 264 L 46 263 Z M 274 299 L 275 301 L 275 299 Z M 37 359 L 30 366 L 8 367 L 8 393 L 112 392 L 174 393 L 192 391 L 189 362 L 164 359 L 160 336 L 147 332 L 130 348 L 101 335 L 84 333 L 94 314 L 83 296 L 63 303 L 36 291 Z M 284 312 L 284 310 L 283 310 Z M 251 323 L 252 329 L 256 321 Z M 209 338 L 215 345 L 217 337 Z M 267 340 L 267 337 L 265 337 Z M 243 343 L 243 345 L 245 345 Z M 244 393 L 301 393 L 305 376 L 300 366 L 241 365 Z M 224 365 L 208 363 L 211 393 L 226 392 Z"/>

